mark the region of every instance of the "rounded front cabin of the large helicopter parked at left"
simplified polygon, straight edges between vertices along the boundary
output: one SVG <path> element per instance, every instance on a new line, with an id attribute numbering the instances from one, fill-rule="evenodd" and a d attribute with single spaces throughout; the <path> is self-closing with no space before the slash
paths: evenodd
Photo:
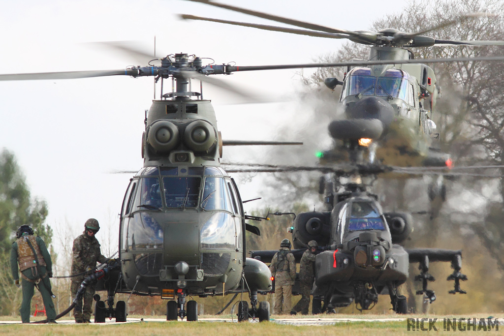
<path id="1" fill-rule="evenodd" d="M 130 182 L 120 221 L 127 287 L 193 295 L 235 289 L 244 264 L 238 200 L 234 181 L 219 167 L 141 169 Z"/>

